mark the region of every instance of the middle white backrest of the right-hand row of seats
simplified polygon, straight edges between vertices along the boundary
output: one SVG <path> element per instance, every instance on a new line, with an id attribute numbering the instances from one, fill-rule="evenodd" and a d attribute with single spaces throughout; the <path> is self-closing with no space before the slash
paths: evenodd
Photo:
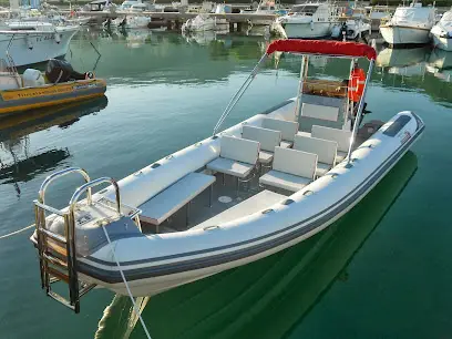
<path id="1" fill-rule="evenodd" d="M 318 162 L 332 165 L 338 152 L 338 143 L 330 140 L 296 135 L 294 150 L 317 154 Z"/>

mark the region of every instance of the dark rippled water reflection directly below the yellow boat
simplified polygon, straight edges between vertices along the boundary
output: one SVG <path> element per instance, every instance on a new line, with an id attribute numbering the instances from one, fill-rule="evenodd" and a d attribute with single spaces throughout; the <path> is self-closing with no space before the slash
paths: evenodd
<path id="1" fill-rule="evenodd" d="M 107 104 L 106 96 L 30 111 L 27 114 L 13 115 L 1 120 L 0 126 L 0 184 L 12 184 L 17 196 L 21 189 L 19 183 L 25 183 L 41 173 L 54 170 L 69 158 L 68 148 L 40 150 L 30 154 L 29 135 L 52 126 L 68 129 L 81 116 L 103 110 Z"/>

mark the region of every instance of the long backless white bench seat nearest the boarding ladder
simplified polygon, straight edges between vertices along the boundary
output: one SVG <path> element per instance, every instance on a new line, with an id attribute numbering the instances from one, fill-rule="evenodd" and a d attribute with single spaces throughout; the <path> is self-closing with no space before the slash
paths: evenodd
<path id="1" fill-rule="evenodd" d="M 204 173 L 189 173 L 165 191 L 140 205 L 140 219 L 158 226 L 197 195 L 215 183 L 215 176 Z M 157 229 L 158 230 L 158 229 Z"/>

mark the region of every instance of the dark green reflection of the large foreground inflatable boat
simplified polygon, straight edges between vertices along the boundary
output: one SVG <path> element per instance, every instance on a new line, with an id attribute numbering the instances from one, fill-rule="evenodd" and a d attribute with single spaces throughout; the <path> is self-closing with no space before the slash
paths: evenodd
<path id="1" fill-rule="evenodd" d="M 347 268 L 418 166 L 408 152 L 361 203 L 326 230 L 267 258 L 137 298 L 152 338 L 281 338 Z M 141 338 L 127 297 L 115 296 L 95 338 Z"/>

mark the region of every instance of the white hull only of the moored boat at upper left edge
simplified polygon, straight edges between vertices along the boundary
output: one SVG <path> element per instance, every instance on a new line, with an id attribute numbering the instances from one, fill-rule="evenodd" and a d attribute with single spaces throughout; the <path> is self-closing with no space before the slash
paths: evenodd
<path id="1" fill-rule="evenodd" d="M 56 32 L 23 32 L 14 34 L 10 31 L 0 32 L 0 58 L 8 60 L 7 50 L 12 56 L 17 66 L 44 62 L 51 58 L 64 56 L 68 53 L 69 44 L 79 27 L 59 30 Z"/>

